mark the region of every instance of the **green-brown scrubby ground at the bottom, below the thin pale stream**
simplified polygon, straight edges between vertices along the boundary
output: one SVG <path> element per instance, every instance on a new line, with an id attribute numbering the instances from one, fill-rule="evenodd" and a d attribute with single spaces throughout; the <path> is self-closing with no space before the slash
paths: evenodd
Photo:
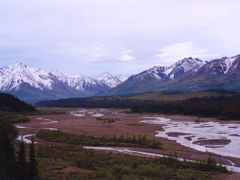
<path id="1" fill-rule="evenodd" d="M 226 173 L 214 161 L 193 163 L 86 150 L 78 145 L 37 146 L 41 179 L 206 180 Z"/>

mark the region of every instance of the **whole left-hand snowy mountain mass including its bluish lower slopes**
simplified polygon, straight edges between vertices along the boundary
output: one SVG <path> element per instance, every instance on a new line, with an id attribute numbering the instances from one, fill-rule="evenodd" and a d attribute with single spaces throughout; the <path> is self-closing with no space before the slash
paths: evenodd
<path id="1" fill-rule="evenodd" d="M 0 91 L 14 94 L 28 102 L 86 97 L 108 89 L 110 87 L 106 84 L 86 76 L 46 72 L 22 63 L 0 69 Z"/>

